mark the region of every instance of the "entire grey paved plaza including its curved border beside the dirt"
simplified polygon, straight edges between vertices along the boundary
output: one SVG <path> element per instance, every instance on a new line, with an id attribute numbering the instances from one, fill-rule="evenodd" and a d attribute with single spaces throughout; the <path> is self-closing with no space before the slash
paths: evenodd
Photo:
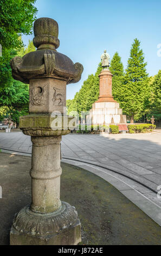
<path id="1" fill-rule="evenodd" d="M 31 156 L 30 136 L 0 133 L 0 148 Z M 62 161 L 79 166 L 110 182 L 161 225 L 161 131 L 125 135 L 66 135 Z"/>

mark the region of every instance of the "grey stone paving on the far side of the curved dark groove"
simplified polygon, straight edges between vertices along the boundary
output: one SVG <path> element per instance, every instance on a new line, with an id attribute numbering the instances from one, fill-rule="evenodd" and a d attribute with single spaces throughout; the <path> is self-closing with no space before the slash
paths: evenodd
<path id="1" fill-rule="evenodd" d="M 0 133 L 0 148 L 31 153 L 30 136 Z M 136 135 L 62 136 L 62 157 L 97 163 L 143 182 L 157 191 L 161 185 L 161 132 Z"/>

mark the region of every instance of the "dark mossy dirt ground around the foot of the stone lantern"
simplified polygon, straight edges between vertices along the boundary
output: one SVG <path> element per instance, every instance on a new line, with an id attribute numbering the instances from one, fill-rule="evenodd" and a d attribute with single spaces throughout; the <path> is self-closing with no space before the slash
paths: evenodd
<path id="1" fill-rule="evenodd" d="M 161 227 L 116 188 L 79 167 L 62 163 L 61 200 L 74 205 L 82 245 L 161 245 Z M 0 245 L 9 245 L 17 211 L 31 202 L 31 157 L 0 153 Z"/>

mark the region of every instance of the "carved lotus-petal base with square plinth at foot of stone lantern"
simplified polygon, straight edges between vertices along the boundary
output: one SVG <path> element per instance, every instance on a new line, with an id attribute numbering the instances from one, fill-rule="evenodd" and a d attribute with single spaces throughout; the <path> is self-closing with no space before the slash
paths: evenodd
<path id="1" fill-rule="evenodd" d="M 39 214 L 25 206 L 15 215 L 10 231 L 10 245 L 77 245 L 79 242 L 78 214 L 66 202 L 49 214 Z"/>

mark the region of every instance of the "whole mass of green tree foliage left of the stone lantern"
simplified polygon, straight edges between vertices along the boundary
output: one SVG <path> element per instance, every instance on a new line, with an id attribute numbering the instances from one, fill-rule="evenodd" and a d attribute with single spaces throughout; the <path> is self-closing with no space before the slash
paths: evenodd
<path id="1" fill-rule="evenodd" d="M 10 59 L 35 51 L 33 42 L 23 47 L 21 34 L 31 34 L 37 9 L 35 0 L 0 1 L 0 118 L 10 117 L 16 123 L 28 113 L 29 86 L 12 78 Z"/>

